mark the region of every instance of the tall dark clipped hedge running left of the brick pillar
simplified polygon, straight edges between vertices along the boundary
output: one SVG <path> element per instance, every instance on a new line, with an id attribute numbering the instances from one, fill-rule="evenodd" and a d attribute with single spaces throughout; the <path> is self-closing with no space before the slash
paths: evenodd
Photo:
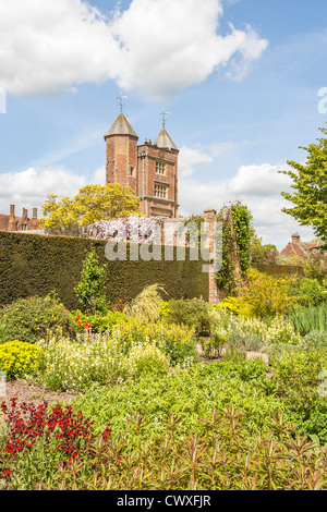
<path id="1" fill-rule="evenodd" d="M 81 279 L 82 261 L 95 247 L 100 264 L 108 265 L 107 298 L 114 303 L 134 298 L 145 285 L 162 284 L 171 298 L 208 300 L 208 275 L 203 261 L 174 257 L 166 261 L 108 261 L 105 241 L 68 236 L 45 236 L 0 232 L 0 305 L 32 295 L 45 296 L 56 291 L 70 309 L 80 307 L 74 287 Z M 129 247 L 129 246 L 128 246 Z M 129 254 L 129 251 L 128 251 Z M 174 255 L 175 256 L 175 255 Z"/>

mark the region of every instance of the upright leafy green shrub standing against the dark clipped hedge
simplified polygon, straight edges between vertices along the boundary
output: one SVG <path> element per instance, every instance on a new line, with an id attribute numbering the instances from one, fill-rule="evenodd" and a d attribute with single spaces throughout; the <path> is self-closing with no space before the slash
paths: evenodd
<path id="1" fill-rule="evenodd" d="M 95 249 L 93 248 L 86 255 L 83 261 L 82 280 L 75 288 L 76 296 L 86 312 L 96 314 L 97 310 L 106 308 L 105 282 L 106 267 L 99 265 Z"/>

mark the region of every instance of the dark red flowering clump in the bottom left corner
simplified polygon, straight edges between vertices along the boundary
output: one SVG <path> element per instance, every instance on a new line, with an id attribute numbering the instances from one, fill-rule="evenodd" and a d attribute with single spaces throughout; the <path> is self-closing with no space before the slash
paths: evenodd
<path id="1" fill-rule="evenodd" d="M 33 489 L 36 481 L 49 481 L 60 475 L 60 467 L 69 461 L 85 456 L 93 461 L 93 422 L 82 413 L 73 413 L 72 406 L 48 403 L 1 403 L 7 429 L 1 442 L 1 487 L 5 489 Z M 110 435 L 107 425 L 101 436 Z"/>

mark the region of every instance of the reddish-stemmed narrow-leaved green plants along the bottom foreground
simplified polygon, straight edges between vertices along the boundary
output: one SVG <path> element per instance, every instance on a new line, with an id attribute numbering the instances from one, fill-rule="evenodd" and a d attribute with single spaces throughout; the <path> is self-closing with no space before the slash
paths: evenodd
<path id="1" fill-rule="evenodd" d="M 136 493 L 179 489 L 197 495 L 215 490 L 327 488 L 325 450 L 306 436 L 300 437 L 282 412 L 271 418 L 268 431 L 252 438 L 247 416 L 233 405 L 221 413 L 214 409 L 201 423 L 199 434 L 191 430 L 183 439 L 175 436 L 180 418 L 165 416 L 164 422 L 164 435 L 155 442 L 145 435 L 153 424 L 147 416 L 135 413 L 124 427 L 137 436 L 137 442 L 124 446 L 122 439 L 112 438 L 110 443 L 94 442 L 90 461 L 69 463 L 58 472 L 52 485 L 43 483 L 41 489 L 124 489 Z M 185 498 L 177 496 L 184 504 Z M 172 504 L 171 496 L 167 502 L 170 499 Z M 116 498 L 116 503 L 122 504 L 123 498 Z"/>

